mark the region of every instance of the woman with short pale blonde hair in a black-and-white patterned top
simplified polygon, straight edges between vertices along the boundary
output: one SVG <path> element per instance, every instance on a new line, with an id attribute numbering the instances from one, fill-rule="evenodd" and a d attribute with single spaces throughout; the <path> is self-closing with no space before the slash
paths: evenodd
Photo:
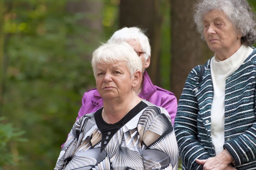
<path id="1" fill-rule="evenodd" d="M 91 61 L 103 107 L 76 121 L 55 170 L 178 168 L 169 113 L 138 97 L 142 62 L 125 42 L 106 43 Z"/>

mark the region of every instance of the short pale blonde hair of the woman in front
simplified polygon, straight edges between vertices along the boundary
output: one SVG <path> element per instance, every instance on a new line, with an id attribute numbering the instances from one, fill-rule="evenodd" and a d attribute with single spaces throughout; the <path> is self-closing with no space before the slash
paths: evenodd
<path id="1" fill-rule="evenodd" d="M 108 42 L 102 44 L 93 52 L 91 66 L 96 77 L 97 64 L 113 64 L 118 61 L 125 61 L 130 76 L 137 70 L 142 72 L 142 62 L 133 48 L 126 42 Z"/>

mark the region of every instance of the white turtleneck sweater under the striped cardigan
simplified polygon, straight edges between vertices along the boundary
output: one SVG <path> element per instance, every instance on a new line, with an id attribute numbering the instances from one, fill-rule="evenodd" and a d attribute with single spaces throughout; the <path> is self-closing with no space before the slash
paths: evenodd
<path id="1" fill-rule="evenodd" d="M 226 78 L 236 71 L 253 49 L 242 45 L 237 52 L 224 61 L 217 57 L 211 60 L 211 75 L 213 82 L 213 102 L 211 108 L 211 136 L 216 155 L 223 151 L 225 123 L 225 83 Z"/>

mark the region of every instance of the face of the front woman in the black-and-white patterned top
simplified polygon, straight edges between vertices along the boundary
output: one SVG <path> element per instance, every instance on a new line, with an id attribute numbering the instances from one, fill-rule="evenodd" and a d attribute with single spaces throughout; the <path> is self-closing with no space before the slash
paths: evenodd
<path id="1" fill-rule="evenodd" d="M 134 76 L 130 77 L 125 61 L 98 63 L 95 79 L 97 90 L 103 99 L 125 98 L 132 92 Z"/>

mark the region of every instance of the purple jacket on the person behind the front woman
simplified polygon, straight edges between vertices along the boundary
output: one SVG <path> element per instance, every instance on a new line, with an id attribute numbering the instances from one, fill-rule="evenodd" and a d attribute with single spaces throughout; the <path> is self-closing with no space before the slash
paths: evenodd
<path id="1" fill-rule="evenodd" d="M 139 97 L 146 99 L 157 106 L 165 108 L 170 114 L 172 123 L 174 124 L 174 118 L 177 112 L 177 99 L 172 92 L 169 92 L 160 87 L 154 86 L 147 72 L 143 74 L 143 87 Z M 97 89 L 91 89 L 84 93 L 82 99 L 82 106 L 78 112 L 79 119 L 87 113 L 92 113 L 103 106 L 103 99 L 100 97 Z"/>

